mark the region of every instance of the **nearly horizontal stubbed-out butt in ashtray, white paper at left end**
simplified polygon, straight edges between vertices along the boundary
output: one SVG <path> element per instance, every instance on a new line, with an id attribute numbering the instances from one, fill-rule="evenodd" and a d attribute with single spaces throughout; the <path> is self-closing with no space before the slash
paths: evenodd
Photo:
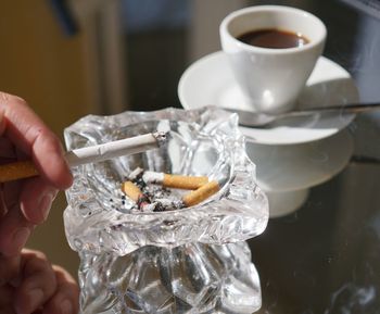
<path id="1" fill-rule="evenodd" d="M 195 190 L 208 183 L 206 176 L 182 176 L 165 173 L 144 172 L 142 179 L 145 184 L 163 185 L 166 188 Z"/>

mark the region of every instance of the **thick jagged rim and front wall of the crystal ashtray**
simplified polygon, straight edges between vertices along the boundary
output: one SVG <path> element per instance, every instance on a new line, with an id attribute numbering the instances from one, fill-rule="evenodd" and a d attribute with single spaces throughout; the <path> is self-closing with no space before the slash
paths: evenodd
<path id="1" fill-rule="evenodd" d="M 81 250 L 75 246 L 75 239 L 88 244 L 87 249 L 90 251 L 116 250 L 126 253 L 148 244 L 176 247 L 189 241 L 241 241 L 264 231 L 269 215 L 268 201 L 257 187 L 255 165 L 245 152 L 245 140 L 239 130 L 237 114 L 206 106 L 197 110 L 169 108 L 152 112 L 123 112 L 111 116 L 88 115 L 65 129 L 65 139 L 71 149 L 71 133 L 80 134 L 84 124 L 91 120 L 111 124 L 126 120 L 123 125 L 132 125 L 148 121 L 175 120 L 174 116 L 187 123 L 200 120 L 201 124 L 204 120 L 205 130 L 217 125 L 215 129 L 218 131 L 231 133 L 228 139 L 233 143 L 229 151 L 233 164 L 220 190 L 199 204 L 178 210 L 149 213 L 113 210 L 100 211 L 100 215 L 97 216 L 84 216 L 76 208 L 79 203 L 71 200 L 73 187 L 66 191 L 68 206 L 64 213 L 64 221 L 67 239 L 74 250 Z M 225 125 L 219 122 L 224 122 Z M 80 204 L 85 208 L 90 205 L 86 202 Z M 173 224 L 165 225 L 167 221 Z M 231 224 L 237 226 L 236 230 L 232 230 Z M 118 226 L 124 229 L 114 229 Z M 114 230 L 116 231 L 113 233 Z M 134 230 L 132 235 L 127 235 L 130 230 Z M 105 233 L 101 244 L 96 239 L 99 233 Z M 115 244 L 122 236 L 126 237 L 123 238 L 123 243 Z"/>

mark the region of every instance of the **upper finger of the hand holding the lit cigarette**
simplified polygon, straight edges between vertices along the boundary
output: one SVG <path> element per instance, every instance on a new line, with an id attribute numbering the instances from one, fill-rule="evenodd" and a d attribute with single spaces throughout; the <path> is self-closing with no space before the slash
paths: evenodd
<path id="1" fill-rule="evenodd" d="M 73 177 L 58 137 L 27 103 L 15 96 L 0 92 L 0 136 L 30 155 L 39 173 L 59 189 L 72 185 Z"/>

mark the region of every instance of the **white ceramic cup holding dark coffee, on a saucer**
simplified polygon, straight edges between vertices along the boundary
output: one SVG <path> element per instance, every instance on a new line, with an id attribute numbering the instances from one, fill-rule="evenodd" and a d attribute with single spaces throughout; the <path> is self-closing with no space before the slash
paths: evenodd
<path id="1" fill-rule="evenodd" d="M 261 48 L 237 37 L 252 30 L 279 29 L 301 34 L 309 42 L 294 48 Z M 286 112 L 294 108 L 320 56 L 326 26 L 315 15 L 282 5 L 257 5 L 227 15 L 219 27 L 223 50 L 246 103 L 254 111 Z"/>

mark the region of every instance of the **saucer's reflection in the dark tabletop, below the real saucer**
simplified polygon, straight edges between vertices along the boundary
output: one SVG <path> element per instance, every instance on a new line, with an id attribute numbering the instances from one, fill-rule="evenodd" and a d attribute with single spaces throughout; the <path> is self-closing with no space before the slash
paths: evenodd
<path id="1" fill-rule="evenodd" d="M 354 143 L 349 130 L 321 140 L 291 146 L 246 143 L 265 192 L 292 192 L 320 185 L 350 162 Z"/>

